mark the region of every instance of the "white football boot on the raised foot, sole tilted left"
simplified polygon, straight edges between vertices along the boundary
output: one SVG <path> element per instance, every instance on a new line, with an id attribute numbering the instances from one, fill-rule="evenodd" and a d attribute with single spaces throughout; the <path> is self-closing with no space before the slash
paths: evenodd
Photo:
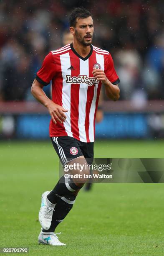
<path id="1" fill-rule="evenodd" d="M 43 229 L 48 230 L 51 225 L 51 220 L 53 217 L 53 210 L 56 204 L 51 204 L 48 199 L 47 195 L 50 191 L 45 191 L 42 195 L 41 207 L 39 211 L 39 221 L 40 225 Z"/>

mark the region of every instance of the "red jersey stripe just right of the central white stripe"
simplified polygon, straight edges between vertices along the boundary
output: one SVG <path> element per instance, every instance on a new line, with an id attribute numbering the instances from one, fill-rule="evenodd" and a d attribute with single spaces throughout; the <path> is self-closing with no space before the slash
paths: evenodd
<path id="1" fill-rule="evenodd" d="M 91 57 L 89 58 L 89 77 L 93 77 L 92 71 L 93 71 L 93 64 L 96 63 L 96 54 L 92 53 Z M 87 142 L 90 142 L 89 139 L 89 113 L 91 109 L 91 104 L 94 96 L 94 87 L 95 85 L 93 84 L 92 86 L 88 86 L 87 90 L 87 102 L 86 102 L 86 120 L 85 120 L 85 130 L 86 130 L 86 139 Z"/>

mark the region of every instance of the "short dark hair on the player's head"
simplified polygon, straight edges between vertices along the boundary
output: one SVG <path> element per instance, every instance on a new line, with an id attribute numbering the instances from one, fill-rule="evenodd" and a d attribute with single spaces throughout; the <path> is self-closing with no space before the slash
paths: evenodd
<path id="1" fill-rule="evenodd" d="M 88 18 L 89 16 L 92 17 L 91 13 L 86 10 L 83 7 L 75 7 L 69 17 L 69 22 L 70 22 L 70 27 L 75 27 L 76 26 L 76 19 L 77 18 Z"/>

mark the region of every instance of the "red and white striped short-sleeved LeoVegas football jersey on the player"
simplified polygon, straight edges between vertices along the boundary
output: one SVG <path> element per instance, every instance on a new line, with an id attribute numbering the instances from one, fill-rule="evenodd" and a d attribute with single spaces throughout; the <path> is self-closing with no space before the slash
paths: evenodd
<path id="1" fill-rule="evenodd" d="M 43 85 L 52 80 L 52 100 L 68 112 L 64 123 L 50 120 L 50 137 L 71 136 L 82 142 L 93 142 L 95 117 L 101 82 L 94 79 L 93 67 L 103 69 L 113 84 L 120 82 L 111 54 L 91 45 L 91 51 L 81 57 L 68 44 L 51 51 L 37 72 L 36 79 Z"/>

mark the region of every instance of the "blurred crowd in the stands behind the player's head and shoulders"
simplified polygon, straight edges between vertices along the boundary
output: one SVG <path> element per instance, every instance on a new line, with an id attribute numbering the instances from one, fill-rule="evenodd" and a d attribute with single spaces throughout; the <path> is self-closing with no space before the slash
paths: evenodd
<path id="1" fill-rule="evenodd" d="M 78 6 L 93 14 L 93 45 L 113 56 L 121 100 L 164 99 L 164 1 L 2 0 L 0 100 L 34 100 L 35 74 L 45 55 L 63 46 Z"/>

